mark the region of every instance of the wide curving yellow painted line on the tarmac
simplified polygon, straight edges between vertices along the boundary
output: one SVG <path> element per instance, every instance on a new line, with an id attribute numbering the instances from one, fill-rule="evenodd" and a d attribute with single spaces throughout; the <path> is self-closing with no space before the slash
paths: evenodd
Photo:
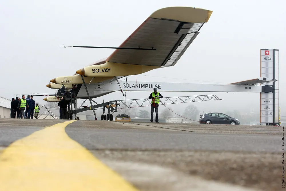
<path id="1" fill-rule="evenodd" d="M 137 190 L 58 123 L 13 142 L 0 155 L 1 191 Z"/>

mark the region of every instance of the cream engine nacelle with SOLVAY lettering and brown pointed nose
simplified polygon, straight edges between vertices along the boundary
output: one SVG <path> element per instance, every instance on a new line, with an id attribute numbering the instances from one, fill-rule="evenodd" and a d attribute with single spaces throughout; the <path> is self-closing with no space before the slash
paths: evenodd
<path id="1" fill-rule="evenodd" d="M 86 66 L 78 71 L 77 74 L 89 77 L 114 77 L 114 76 L 131 76 L 142 74 L 150 70 L 160 68 L 160 66 L 144 66 L 137 64 L 120 64 L 106 62 L 100 65 Z"/>

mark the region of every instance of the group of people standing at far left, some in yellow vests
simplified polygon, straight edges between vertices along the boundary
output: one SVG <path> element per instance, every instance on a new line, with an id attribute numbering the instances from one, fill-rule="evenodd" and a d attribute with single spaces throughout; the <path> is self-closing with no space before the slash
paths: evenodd
<path id="1" fill-rule="evenodd" d="M 39 114 L 39 106 L 35 104 L 35 100 L 33 100 L 33 96 L 27 96 L 25 99 L 25 95 L 22 95 L 22 98 L 16 97 L 16 99 L 12 98 L 11 101 L 11 118 L 21 118 L 23 119 L 38 119 Z M 25 111 L 26 110 L 26 111 Z M 35 111 L 35 114 L 34 114 Z"/>

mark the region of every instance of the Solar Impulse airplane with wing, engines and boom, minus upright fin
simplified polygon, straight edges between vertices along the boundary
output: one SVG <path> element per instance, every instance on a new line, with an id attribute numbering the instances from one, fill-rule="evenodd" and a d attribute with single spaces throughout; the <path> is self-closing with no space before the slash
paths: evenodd
<path id="1" fill-rule="evenodd" d="M 194 7 L 166 7 L 152 13 L 119 47 L 71 46 L 76 48 L 113 48 L 110 56 L 76 71 L 71 76 L 50 80 L 46 86 L 59 89 L 45 101 L 57 102 L 62 96 L 90 99 L 121 91 L 162 92 L 271 92 L 270 86 L 257 84 L 277 81 L 255 78 L 231 84 L 195 84 L 127 81 L 127 76 L 174 66 L 208 22 L 212 11 Z M 66 47 L 66 46 L 65 46 Z M 120 80 L 126 77 L 126 80 Z M 251 88 L 249 88 L 251 86 Z M 123 89 L 122 89 L 123 88 Z"/>

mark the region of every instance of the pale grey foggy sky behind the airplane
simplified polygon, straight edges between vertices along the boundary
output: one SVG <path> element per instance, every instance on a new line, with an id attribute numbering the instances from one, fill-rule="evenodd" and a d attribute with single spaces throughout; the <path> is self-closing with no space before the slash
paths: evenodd
<path id="1" fill-rule="evenodd" d="M 286 110 L 283 97 L 285 4 L 282 0 L 3 1 L 0 7 L 1 96 L 10 99 L 16 97 L 14 94 L 54 93 L 54 89 L 45 86 L 52 78 L 73 75 L 76 70 L 114 51 L 59 45 L 119 46 L 157 9 L 187 6 L 213 13 L 175 66 L 137 75 L 137 80 L 227 84 L 253 79 L 260 77 L 259 49 L 280 49 L 282 114 Z M 150 92 L 146 92 L 145 97 L 143 94 L 127 92 L 126 99 L 148 98 Z M 259 93 L 162 92 L 163 97 L 204 94 L 215 94 L 223 101 L 193 103 L 201 110 L 248 112 L 254 107 L 259 112 Z M 43 98 L 34 96 L 37 103 L 46 104 Z M 114 92 L 94 100 L 101 103 L 103 99 L 124 97 L 121 92 Z M 179 109 L 187 105 L 170 107 Z"/>

